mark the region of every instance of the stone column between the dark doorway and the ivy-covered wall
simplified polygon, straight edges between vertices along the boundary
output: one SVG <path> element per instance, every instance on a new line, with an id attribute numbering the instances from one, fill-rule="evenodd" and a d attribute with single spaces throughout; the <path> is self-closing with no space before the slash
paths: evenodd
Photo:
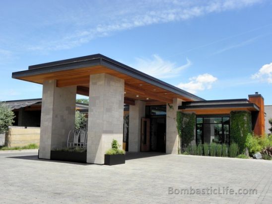
<path id="1" fill-rule="evenodd" d="M 181 99 L 174 98 L 172 104 L 166 105 L 166 153 L 178 153 L 177 111 L 182 103 Z"/>

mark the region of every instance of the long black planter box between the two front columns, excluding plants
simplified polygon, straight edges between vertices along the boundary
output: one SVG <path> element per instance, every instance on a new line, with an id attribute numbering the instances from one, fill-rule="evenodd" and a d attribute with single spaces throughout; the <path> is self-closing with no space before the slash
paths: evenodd
<path id="1" fill-rule="evenodd" d="M 86 163 L 87 152 L 51 151 L 50 159 Z"/>

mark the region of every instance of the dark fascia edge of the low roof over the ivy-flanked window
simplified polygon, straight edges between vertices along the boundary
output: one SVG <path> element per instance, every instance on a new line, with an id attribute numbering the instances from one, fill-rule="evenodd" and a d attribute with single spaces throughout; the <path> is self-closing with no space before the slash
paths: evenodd
<path id="1" fill-rule="evenodd" d="M 233 104 L 212 104 L 212 105 L 195 105 L 195 106 L 179 106 L 179 110 L 188 109 L 213 109 L 213 108 L 254 108 L 260 111 L 260 108 L 254 103 L 233 103 Z"/>

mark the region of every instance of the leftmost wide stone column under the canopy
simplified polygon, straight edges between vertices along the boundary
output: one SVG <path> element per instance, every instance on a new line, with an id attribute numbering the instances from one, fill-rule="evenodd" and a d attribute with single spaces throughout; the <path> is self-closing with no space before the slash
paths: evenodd
<path id="1" fill-rule="evenodd" d="M 66 147 L 74 128 L 76 86 L 56 87 L 56 80 L 43 83 L 39 158 L 50 159 L 54 148 Z"/>

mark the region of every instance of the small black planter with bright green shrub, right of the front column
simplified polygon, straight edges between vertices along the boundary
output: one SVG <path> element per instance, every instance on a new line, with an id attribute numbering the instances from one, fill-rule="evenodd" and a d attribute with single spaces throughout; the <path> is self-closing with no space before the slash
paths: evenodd
<path id="1" fill-rule="evenodd" d="M 120 146 L 116 139 L 112 140 L 112 148 L 105 153 L 105 165 L 125 164 L 125 151 Z"/>

